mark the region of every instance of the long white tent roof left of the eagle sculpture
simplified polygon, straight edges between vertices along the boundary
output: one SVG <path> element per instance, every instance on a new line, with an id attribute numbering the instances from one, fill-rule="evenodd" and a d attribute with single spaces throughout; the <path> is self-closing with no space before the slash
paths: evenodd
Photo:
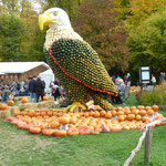
<path id="1" fill-rule="evenodd" d="M 25 73 L 39 66 L 42 66 L 45 70 L 50 69 L 44 62 L 0 62 L 0 71 L 2 73 Z M 42 70 L 41 72 L 45 70 Z"/>

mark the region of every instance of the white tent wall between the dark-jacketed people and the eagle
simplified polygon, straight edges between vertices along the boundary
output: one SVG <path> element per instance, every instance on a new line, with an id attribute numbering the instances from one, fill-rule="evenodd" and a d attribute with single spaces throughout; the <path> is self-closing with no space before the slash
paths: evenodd
<path id="1" fill-rule="evenodd" d="M 45 82 L 45 91 L 49 89 L 51 81 L 54 81 L 54 74 L 52 70 L 46 70 L 45 72 L 42 72 L 39 74 L 42 80 Z"/>

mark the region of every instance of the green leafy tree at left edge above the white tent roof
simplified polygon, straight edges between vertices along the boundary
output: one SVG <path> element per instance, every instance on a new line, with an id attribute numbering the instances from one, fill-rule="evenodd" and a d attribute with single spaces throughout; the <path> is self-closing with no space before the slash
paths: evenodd
<path id="1" fill-rule="evenodd" d="M 2 61 L 21 61 L 21 42 L 25 39 L 24 22 L 13 14 L 0 14 L 0 54 Z M 21 56 L 20 56 L 21 54 Z"/>

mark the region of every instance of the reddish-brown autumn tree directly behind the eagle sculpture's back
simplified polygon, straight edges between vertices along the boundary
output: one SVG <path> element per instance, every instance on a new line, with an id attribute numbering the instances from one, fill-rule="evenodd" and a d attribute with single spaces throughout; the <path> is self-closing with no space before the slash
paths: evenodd
<path id="1" fill-rule="evenodd" d="M 100 54 L 106 69 L 118 66 L 124 72 L 129 61 L 127 33 L 115 20 L 113 8 L 112 0 L 84 2 L 74 21 L 74 29 Z"/>

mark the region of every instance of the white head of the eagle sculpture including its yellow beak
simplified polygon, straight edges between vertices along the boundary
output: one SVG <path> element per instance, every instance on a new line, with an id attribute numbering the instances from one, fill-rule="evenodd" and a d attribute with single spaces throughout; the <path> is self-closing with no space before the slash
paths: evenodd
<path id="1" fill-rule="evenodd" d="M 39 15 L 39 27 L 43 30 L 44 25 L 50 29 L 66 29 L 71 28 L 71 22 L 66 12 L 60 8 L 51 8 Z"/>

